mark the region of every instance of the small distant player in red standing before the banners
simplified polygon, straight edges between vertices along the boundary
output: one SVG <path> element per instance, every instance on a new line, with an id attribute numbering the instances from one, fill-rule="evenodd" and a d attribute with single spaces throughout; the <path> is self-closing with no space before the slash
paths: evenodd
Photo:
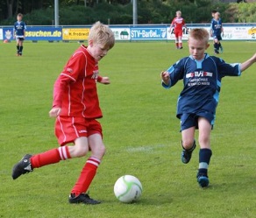
<path id="1" fill-rule="evenodd" d="M 172 28 L 174 27 L 174 34 L 175 34 L 175 44 L 177 49 L 182 49 L 182 27 L 185 27 L 187 30 L 187 26 L 185 24 L 185 20 L 181 18 L 181 11 L 176 11 L 176 17 L 173 19 L 169 32 L 171 32 Z"/>

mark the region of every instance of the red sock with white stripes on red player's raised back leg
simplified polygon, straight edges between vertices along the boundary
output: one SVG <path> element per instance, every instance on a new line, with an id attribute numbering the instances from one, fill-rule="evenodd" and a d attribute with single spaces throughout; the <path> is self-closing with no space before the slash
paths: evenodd
<path id="1" fill-rule="evenodd" d="M 58 163 L 61 159 L 71 158 L 68 146 L 63 146 L 59 148 L 55 148 L 44 153 L 39 153 L 31 158 L 31 164 L 33 168 L 39 168 L 43 165 L 51 165 Z"/>

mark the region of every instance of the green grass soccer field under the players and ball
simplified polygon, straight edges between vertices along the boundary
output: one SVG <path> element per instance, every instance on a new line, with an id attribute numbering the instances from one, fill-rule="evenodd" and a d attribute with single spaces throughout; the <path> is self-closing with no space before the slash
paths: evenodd
<path id="1" fill-rule="evenodd" d="M 223 42 L 226 62 L 255 53 L 253 42 Z M 188 55 L 173 42 L 117 42 L 100 62 L 111 84 L 99 84 L 107 153 L 89 194 L 102 204 L 70 205 L 68 194 L 86 158 L 47 165 L 11 179 L 12 166 L 26 153 L 57 147 L 52 106 L 53 82 L 77 43 L 25 41 L 16 57 L 14 42 L 0 44 L 0 217 L 160 218 L 255 217 L 256 65 L 240 77 L 223 80 L 215 129 L 210 187 L 197 185 L 199 146 L 188 165 L 181 163 L 180 122 L 175 118 L 182 82 L 166 90 L 160 72 Z M 212 46 L 208 51 L 212 54 Z M 197 134 L 197 133 L 196 133 Z M 117 178 L 132 174 L 143 185 L 141 199 L 119 202 Z"/>

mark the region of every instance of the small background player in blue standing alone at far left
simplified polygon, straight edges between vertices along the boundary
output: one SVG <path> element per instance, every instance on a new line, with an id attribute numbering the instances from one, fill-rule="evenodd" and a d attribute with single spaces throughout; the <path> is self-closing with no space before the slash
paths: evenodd
<path id="1" fill-rule="evenodd" d="M 22 56 L 23 42 L 25 40 L 25 22 L 22 21 L 23 15 L 18 13 L 17 21 L 14 23 L 14 34 L 13 37 L 16 39 L 17 56 Z"/>

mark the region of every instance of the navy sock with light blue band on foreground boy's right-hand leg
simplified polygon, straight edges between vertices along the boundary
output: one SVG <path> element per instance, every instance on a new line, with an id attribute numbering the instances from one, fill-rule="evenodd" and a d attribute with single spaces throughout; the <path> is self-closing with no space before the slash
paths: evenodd
<path id="1" fill-rule="evenodd" d="M 208 176 L 208 166 L 210 164 L 211 150 L 207 148 L 200 149 L 199 151 L 199 167 L 198 175 Z"/>

